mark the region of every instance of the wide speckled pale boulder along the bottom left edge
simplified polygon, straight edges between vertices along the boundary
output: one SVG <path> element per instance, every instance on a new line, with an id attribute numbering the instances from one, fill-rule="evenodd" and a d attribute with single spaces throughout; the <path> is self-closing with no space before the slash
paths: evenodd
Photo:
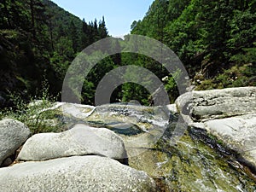
<path id="1" fill-rule="evenodd" d="M 3 168 L 0 186 L 2 191 L 156 191 L 145 172 L 93 155 Z"/>

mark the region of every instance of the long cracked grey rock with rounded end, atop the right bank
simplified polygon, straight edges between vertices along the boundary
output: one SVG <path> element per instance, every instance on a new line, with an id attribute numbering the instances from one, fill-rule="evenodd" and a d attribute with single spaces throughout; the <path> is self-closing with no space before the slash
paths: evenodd
<path id="1" fill-rule="evenodd" d="M 192 91 L 179 96 L 176 104 L 194 121 L 256 113 L 256 87 Z"/>

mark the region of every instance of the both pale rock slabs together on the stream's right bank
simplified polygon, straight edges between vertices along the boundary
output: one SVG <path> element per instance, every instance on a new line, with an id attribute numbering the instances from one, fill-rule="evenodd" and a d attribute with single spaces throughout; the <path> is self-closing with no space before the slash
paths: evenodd
<path id="1" fill-rule="evenodd" d="M 217 137 L 256 172 L 256 87 L 192 91 L 176 106 L 191 129 Z"/>

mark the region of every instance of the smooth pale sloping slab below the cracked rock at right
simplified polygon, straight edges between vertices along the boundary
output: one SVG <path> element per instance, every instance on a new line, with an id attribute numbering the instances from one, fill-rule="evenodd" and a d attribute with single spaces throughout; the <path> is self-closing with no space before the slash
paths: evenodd
<path id="1" fill-rule="evenodd" d="M 213 119 L 204 124 L 207 131 L 256 167 L 256 113 Z"/>

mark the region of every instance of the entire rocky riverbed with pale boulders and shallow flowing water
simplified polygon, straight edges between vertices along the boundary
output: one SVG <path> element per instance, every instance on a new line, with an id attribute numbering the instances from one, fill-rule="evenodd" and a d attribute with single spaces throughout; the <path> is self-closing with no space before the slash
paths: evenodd
<path id="1" fill-rule="evenodd" d="M 255 87 L 38 113 L 59 129 L 32 136 L 27 122 L 0 121 L 1 191 L 256 190 Z"/>

